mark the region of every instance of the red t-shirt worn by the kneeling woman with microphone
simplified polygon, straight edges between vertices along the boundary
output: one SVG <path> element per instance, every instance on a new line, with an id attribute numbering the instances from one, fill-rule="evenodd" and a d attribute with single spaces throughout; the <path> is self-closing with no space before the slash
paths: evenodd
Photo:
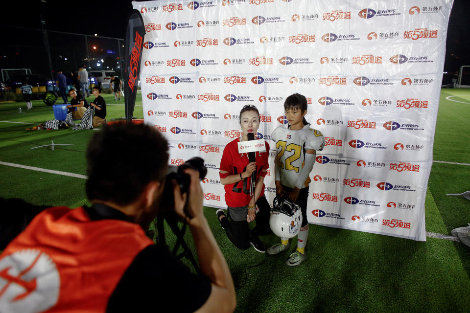
<path id="1" fill-rule="evenodd" d="M 246 166 L 248 165 L 248 163 L 250 163 L 248 155 L 246 153 L 238 153 L 238 142 L 239 138 L 236 138 L 229 142 L 224 148 L 224 153 L 222 155 L 222 159 L 220 160 L 220 170 L 229 172 L 229 174 L 219 173 L 221 178 L 226 177 L 228 175 L 245 172 Z M 266 151 L 256 153 L 257 180 L 260 176 L 260 172 L 269 168 L 269 144 L 267 143 L 267 141 L 264 141 L 264 144 L 266 145 Z M 225 202 L 227 203 L 227 205 L 232 207 L 248 205 L 248 202 L 250 202 L 251 199 L 250 184 L 251 177 L 235 182 L 233 184 L 225 185 Z M 264 195 L 264 184 L 263 188 L 261 189 L 261 193 L 259 194 L 259 197 L 261 197 L 262 195 Z"/>

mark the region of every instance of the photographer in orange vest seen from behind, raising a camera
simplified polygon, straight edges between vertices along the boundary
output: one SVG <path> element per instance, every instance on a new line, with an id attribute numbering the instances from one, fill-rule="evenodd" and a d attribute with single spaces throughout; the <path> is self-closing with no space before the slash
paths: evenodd
<path id="1" fill-rule="evenodd" d="M 106 126 L 87 150 L 91 207 L 2 200 L 1 243 L 14 239 L 0 255 L 0 312 L 233 312 L 234 284 L 203 215 L 196 171 L 185 170 L 188 194 L 173 181 L 174 210 L 188 223 L 203 275 L 145 236 L 159 212 L 167 150 L 149 126 Z"/>

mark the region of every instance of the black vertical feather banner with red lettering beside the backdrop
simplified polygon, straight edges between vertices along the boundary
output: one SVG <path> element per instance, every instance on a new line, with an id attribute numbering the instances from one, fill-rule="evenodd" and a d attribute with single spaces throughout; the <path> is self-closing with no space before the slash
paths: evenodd
<path id="1" fill-rule="evenodd" d="M 136 104 L 137 84 L 139 83 L 139 71 L 141 68 L 142 43 L 145 36 L 145 27 L 141 13 L 133 9 L 127 19 L 125 35 L 125 67 L 124 74 L 124 103 L 126 121 L 132 120 L 134 106 Z"/>

